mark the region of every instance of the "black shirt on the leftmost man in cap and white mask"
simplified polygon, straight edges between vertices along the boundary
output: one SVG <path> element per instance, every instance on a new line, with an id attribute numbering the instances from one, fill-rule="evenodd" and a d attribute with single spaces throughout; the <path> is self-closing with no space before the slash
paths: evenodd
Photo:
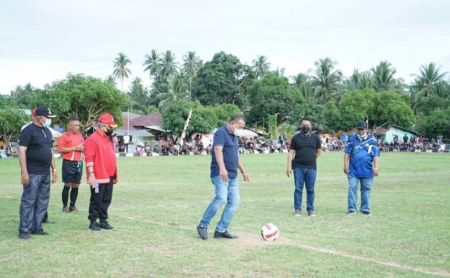
<path id="1" fill-rule="evenodd" d="M 51 166 L 51 131 L 29 124 L 19 136 L 19 146 L 26 149 L 26 169 L 29 174 L 49 174 Z"/>

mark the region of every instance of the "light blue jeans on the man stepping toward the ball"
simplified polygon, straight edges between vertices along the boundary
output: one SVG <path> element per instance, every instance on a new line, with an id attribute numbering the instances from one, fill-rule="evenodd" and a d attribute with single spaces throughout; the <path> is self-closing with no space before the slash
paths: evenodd
<path id="1" fill-rule="evenodd" d="M 220 176 L 211 177 L 211 182 L 214 185 L 216 191 L 216 197 L 211 201 L 207 210 L 204 211 L 204 215 L 202 220 L 200 221 L 200 225 L 204 227 L 208 227 L 211 219 L 216 215 L 218 208 L 227 203 L 225 205 L 225 209 L 223 210 L 222 217 L 217 223 L 216 231 L 223 233 L 227 230 L 228 225 L 234 216 L 234 211 L 239 206 L 239 202 L 241 197 L 239 197 L 239 181 L 236 178 L 228 179 L 227 182 L 224 182 Z"/>

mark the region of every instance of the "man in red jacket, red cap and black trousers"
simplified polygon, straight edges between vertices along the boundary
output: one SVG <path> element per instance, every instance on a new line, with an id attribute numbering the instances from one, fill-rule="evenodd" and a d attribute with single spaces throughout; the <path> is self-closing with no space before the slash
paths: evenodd
<path id="1" fill-rule="evenodd" d="M 99 117 L 97 131 L 84 144 L 86 174 L 90 185 L 89 229 L 91 231 L 113 231 L 106 221 L 108 208 L 113 198 L 113 184 L 118 181 L 117 163 L 111 136 L 115 124 L 109 113 Z M 97 219 L 100 222 L 97 222 Z"/>

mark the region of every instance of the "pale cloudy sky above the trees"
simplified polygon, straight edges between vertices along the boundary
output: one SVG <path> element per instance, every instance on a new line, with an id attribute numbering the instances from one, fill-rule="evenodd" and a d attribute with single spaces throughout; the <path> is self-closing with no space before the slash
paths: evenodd
<path id="1" fill-rule="evenodd" d="M 68 72 L 105 78 L 119 52 L 131 79 L 150 85 L 142 64 L 151 49 L 178 61 L 187 51 L 204 61 L 225 51 L 248 64 L 264 55 L 287 76 L 327 56 L 346 76 L 388 60 L 412 81 L 430 62 L 450 72 L 449 15 L 447 0 L 2 0 L 0 93 Z"/>

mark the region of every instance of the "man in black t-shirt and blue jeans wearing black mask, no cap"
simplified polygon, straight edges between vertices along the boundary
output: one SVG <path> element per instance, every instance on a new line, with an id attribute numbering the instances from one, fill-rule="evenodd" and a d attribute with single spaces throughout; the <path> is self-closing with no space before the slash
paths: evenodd
<path id="1" fill-rule="evenodd" d="M 321 154 L 321 140 L 319 136 L 311 133 L 312 120 L 303 117 L 300 121 L 301 132 L 291 140 L 289 156 L 287 158 L 286 174 L 289 177 L 294 170 L 294 215 L 302 212 L 303 185 L 306 187 L 306 209 L 308 215 L 314 213 L 314 185 L 316 183 L 316 158 Z"/>

